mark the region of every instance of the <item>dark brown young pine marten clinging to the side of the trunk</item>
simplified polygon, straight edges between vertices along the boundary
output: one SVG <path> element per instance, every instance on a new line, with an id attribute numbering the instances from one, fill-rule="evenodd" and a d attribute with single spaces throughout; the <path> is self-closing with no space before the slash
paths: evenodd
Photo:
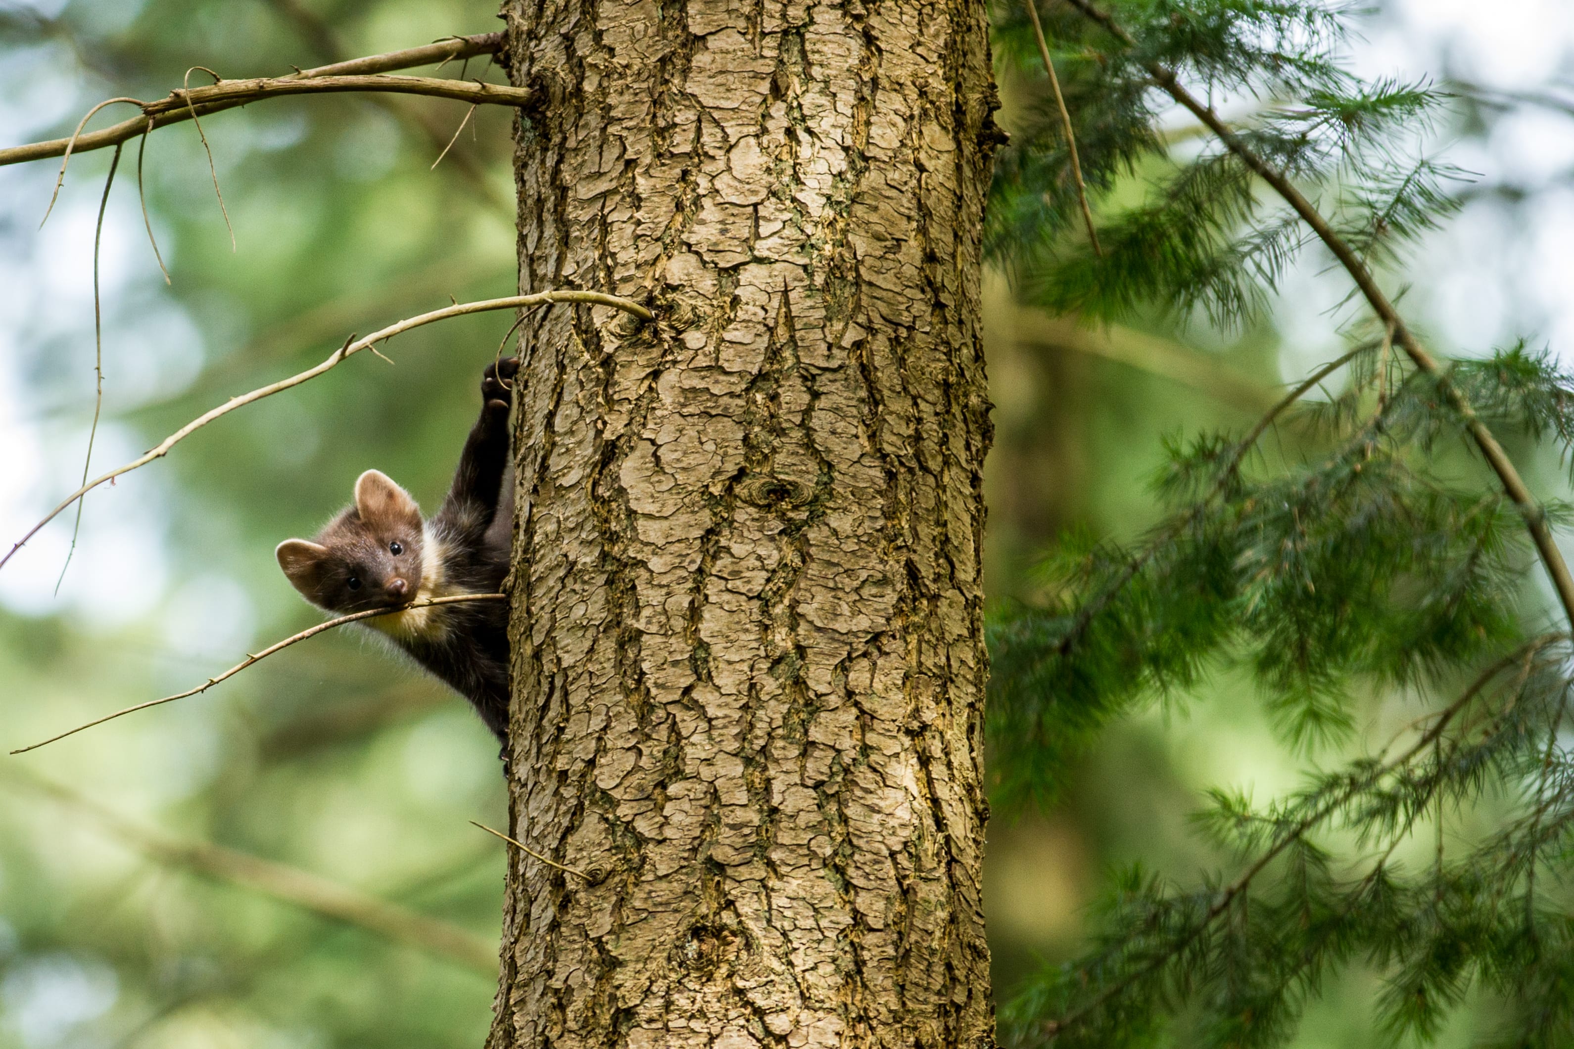
<path id="1" fill-rule="evenodd" d="M 313 541 L 286 539 L 279 566 L 307 601 L 340 615 L 416 599 L 497 593 L 508 571 L 513 486 L 504 486 L 512 434 L 510 357 L 482 377 L 482 415 L 460 455 L 442 508 L 420 506 L 378 470 L 356 480 L 356 500 Z M 427 605 L 364 621 L 464 695 L 493 734 L 508 736 L 508 607 L 504 601 Z"/>

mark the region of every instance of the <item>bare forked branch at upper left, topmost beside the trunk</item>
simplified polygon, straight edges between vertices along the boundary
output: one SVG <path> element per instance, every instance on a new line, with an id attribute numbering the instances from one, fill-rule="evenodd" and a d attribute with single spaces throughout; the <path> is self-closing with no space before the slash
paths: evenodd
<path id="1" fill-rule="evenodd" d="M 104 149 L 134 138 L 135 135 L 140 135 L 153 127 L 164 127 L 167 124 L 178 124 L 190 120 L 192 115 L 205 116 L 219 110 L 235 109 L 236 105 L 246 105 L 247 102 L 255 102 L 257 99 L 279 98 L 285 94 L 310 94 L 324 91 L 392 91 L 400 94 L 449 98 L 475 104 L 488 102 L 497 105 L 524 105 L 530 101 L 532 94 L 521 88 L 480 83 L 474 80 L 378 75 L 389 69 L 409 69 L 411 66 L 425 66 L 449 58 L 490 53 L 496 52 L 501 46 L 501 33 L 455 36 L 438 44 L 428 44 L 427 47 L 411 47 L 408 50 L 398 50 L 387 55 L 371 55 L 367 58 L 340 61 L 331 66 L 318 66 L 316 69 L 294 72 L 286 77 L 222 80 L 211 86 L 192 88 L 190 91 L 172 91 L 168 98 L 162 98 L 154 102 L 137 102 L 142 105 L 142 116 L 134 116 L 112 127 L 105 127 L 104 131 L 0 149 L 0 165 L 41 160 L 44 157 L 58 157 L 66 156 L 68 153 L 83 153 L 88 149 Z M 135 99 L 124 101 L 135 102 Z M 94 107 L 93 112 L 101 107 Z M 91 112 L 88 115 L 91 116 Z"/>

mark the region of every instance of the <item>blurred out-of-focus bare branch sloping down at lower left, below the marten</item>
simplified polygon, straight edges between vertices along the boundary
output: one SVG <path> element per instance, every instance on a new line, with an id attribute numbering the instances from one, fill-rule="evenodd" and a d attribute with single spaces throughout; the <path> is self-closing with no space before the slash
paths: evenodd
<path id="1" fill-rule="evenodd" d="M 208 841 L 181 841 L 167 837 L 104 808 L 60 783 L 25 772 L 19 766 L 11 766 L 5 775 L 19 786 L 27 786 L 93 818 L 109 834 L 157 863 L 179 867 L 260 892 L 302 911 L 312 911 L 326 918 L 419 947 L 466 969 L 497 972 L 497 947 L 469 929 L 378 900 L 297 867 L 264 860 Z"/>

